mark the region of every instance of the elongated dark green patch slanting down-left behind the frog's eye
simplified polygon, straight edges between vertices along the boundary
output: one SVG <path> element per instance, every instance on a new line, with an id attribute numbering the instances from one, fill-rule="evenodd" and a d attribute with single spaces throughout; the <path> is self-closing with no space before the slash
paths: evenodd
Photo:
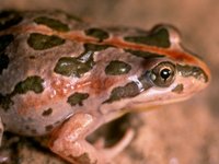
<path id="1" fill-rule="evenodd" d="M 138 85 L 135 82 L 127 83 L 125 86 L 115 87 L 108 99 L 104 103 L 112 103 L 122 98 L 135 97 L 140 93 Z"/>

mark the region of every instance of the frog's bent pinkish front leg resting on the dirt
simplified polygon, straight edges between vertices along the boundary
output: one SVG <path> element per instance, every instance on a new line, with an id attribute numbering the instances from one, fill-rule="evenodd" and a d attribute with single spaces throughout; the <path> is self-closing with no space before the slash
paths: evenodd
<path id="1" fill-rule="evenodd" d="M 90 114 L 76 114 L 53 133 L 49 147 L 53 152 L 73 164 L 105 164 L 119 153 L 132 139 L 128 131 L 124 139 L 111 149 L 95 148 L 85 137 L 103 124 Z"/>

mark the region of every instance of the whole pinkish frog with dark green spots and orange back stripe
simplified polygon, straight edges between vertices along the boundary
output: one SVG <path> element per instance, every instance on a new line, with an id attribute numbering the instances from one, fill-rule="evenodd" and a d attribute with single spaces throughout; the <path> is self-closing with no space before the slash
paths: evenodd
<path id="1" fill-rule="evenodd" d="M 62 11 L 0 12 L 0 140 L 46 137 L 71 164 L 111 163 L 135 137 L 90 143 L 102 125 L 139 108 L 187 99 L 210 71 L 178 30 L 99 26 Z M 114 131 L 112 131 L 114 132 Z"/>

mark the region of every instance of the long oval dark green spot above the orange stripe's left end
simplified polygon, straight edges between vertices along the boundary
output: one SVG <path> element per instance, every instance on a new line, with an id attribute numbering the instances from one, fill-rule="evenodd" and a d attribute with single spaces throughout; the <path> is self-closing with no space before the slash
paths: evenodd
<path id="1" fill-rule="evenodd" d="M 50 17 L 46 17 L 46 16 L 36 17 L 34 20 L 34 22 L 36 22 L 37 24 L 46 25 L 58 32 L 68 32 L 69 31 L 69 27 L 67 24 L 64 24 L 62 22 L 50 19 Z"/>

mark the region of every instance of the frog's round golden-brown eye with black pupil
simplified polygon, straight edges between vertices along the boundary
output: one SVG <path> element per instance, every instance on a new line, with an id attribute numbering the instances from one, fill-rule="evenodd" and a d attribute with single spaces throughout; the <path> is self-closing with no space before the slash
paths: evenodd
<path id="1" fill-rule="evenodd" d="M 175 79 L 175 65 L 170 61 L 160 62 L 151 70 L 150 79 L 157 86 L 170 86 Z"/>

